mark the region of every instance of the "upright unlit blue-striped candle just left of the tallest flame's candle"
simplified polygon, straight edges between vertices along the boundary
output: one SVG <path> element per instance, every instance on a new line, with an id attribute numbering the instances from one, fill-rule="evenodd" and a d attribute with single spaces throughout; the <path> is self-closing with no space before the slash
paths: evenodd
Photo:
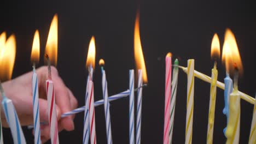
<path id="1" fill-rule="evenodd" d="M 130 70 L 129 77 L 129 89 L 130 89 L 130 97 L 129 97 L 129 140 L 130 144 L 135 143 L 134 137 L 134 70 Z"/>

